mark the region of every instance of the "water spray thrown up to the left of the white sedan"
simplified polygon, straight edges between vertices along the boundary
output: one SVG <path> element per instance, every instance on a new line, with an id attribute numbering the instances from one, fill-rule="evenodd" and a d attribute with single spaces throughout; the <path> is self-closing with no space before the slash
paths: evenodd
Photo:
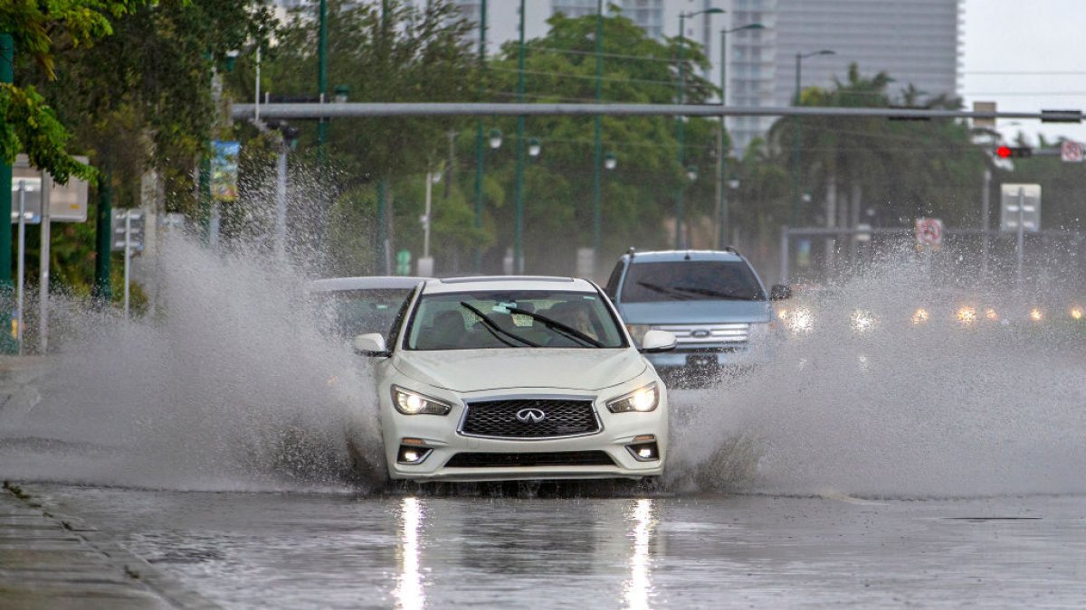
<path id="1" fill-rule="evenodd" d="M 301 274 L 181 237 L 161 255 L 155 316 L 61 307 L 65 344 L 41 403 L 7 431 L 21 441 L 8 444 L 5 475 L 193 490 L 371 482 L 383 465 L 365 361 L 317 332 Z"/>

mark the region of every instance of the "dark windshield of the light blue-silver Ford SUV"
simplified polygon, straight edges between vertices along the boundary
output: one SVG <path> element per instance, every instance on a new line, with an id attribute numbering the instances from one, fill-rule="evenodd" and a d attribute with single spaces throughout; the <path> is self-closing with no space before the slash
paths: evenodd
<path id="1" fill-rule="evenodd" d="M 623 303 L 765 298 L 754 271 L 742 260 L 634 263 L 622 283 Z"/>

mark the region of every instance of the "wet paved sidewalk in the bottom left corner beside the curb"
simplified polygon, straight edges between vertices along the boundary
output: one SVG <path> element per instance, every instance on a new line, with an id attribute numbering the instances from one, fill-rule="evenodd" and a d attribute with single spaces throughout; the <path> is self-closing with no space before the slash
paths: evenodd
<path id="1" fill-rule="evenodd" d="M 0 608 L 217 608 L 15 484 L 0 490 Z"/>

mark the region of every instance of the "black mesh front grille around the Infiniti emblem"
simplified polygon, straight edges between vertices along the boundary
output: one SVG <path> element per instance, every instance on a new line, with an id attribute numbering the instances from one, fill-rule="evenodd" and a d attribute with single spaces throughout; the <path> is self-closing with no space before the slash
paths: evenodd
<path id="1" fill-rule="evenodd" d="M 517 414 L 538 409 L 540 421 L 521 421 Z M 460 433 L 497 439 L 560 439 L 599 432 L 592 401 L 528 398 L 468 403 Z"/>

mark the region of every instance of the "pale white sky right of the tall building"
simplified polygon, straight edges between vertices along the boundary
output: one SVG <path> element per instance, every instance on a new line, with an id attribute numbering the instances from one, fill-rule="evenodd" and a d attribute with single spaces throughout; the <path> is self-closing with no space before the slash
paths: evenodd
<path id="1" fill-rule="evenodd" d="M 962 50 L 967 107 L 1086 110 L 1086 0 L 965 0 Z M 1038 132 L 1086 141 L 1086 123 L 1012 123 L 997 125 L 1006 139 L 1021 130 L 1031 141 Z"/>

